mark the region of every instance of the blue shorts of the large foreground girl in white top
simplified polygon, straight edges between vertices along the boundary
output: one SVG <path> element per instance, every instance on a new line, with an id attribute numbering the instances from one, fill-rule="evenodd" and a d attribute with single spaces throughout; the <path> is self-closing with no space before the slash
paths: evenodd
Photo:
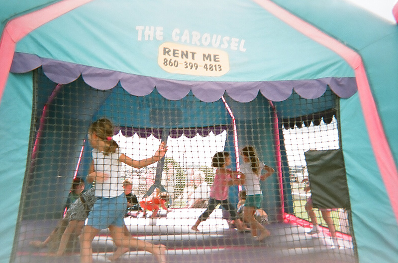
<path id="1" fill-rule="evenodd" d="M 100 197 L 94 203 L 86 225 L 96 229 L 105 229 L 110 225 L 123 227 L 126 208 L 127 200 L 124 194 L 118 197 Z"/>

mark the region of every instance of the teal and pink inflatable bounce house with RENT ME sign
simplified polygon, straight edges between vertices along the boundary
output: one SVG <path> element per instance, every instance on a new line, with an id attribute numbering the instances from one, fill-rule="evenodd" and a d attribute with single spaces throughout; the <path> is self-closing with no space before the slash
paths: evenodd
<path id="1" fill-rule="evenodd" d="M 19 0 L 0 17 L 0 262 L 79 262 L 79 231 L 47 254 L 68 196 L 81 200 L 73 180 L 96 187 L 88 131 L 101 118 L 133 159 L 168 145 L 118 179 L 136 198 L 130 234 L 168 262 L 398 261 L 397 24 L 345 0 Z M 193 230 L 212 156 L 241 171 L 248 145 L 274 169 L 255 211 L 270 235 L 230 220 L 249 180 Z M 158 192 L 167 211 L 143 214 Z M 94 262 L 116 249 L 106 229 L 92 246 Z M 153 262 L 141 249 L 118 261 Z"/>

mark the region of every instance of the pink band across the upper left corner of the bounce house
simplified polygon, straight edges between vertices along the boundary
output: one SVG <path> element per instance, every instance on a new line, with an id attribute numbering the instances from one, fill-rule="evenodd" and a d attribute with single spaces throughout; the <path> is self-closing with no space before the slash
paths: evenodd
<path id="1" fill-rule="evenodd" d="M 39 26 L 90 1 L 93 0 L 63 0 L 7 22 L 0 39 L 0 102 L 16 43 Z"/>

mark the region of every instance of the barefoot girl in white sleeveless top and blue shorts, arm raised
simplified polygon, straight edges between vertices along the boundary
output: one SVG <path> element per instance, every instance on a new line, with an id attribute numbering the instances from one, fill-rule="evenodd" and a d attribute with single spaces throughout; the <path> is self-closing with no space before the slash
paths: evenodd
<path id="1" fill-rule="evenodd" d="M 136 161 L 119 153 L 117 143 L 112 139 L 113 125 L 107 119 L 94 122 L 89 129 L 89 142 L 93 147 L 93 164 L 87 179 L 96 182 L 95 195 L 98 197 L 83 228 L 80 239 L 81 263 L 93 262 L 92 241 L 101 229 L 109 228 L 117 247 L 144 249 L 152 253 L 159 263 L 166 262 L 166 247 L 135 239 L 124 234 L 124 214 L 127 207 L 123 189 L 121 163 L 142 168 L 163 158 L 167 147 L 162 142 L 153 157 Z"/>

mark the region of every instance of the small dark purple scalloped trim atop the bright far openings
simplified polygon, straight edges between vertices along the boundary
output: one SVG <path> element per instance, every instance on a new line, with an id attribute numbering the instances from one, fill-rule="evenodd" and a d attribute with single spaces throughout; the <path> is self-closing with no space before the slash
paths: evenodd
<path id="1" fill-rule="evenodd" d="M 220 134 L 225 130 L 231 129 L 230 125 L 216 125 L 216 126 L 208 126 L 208 127 L 195 127 L 195 128 L 176 128 L 170 129 L 169 136 L 172 138 L 179 138 L 183 134 L 188 138 L 193 138 L 197 134 L 202 137 L 206 137 L 210 132 L 213 132 L 215 135 Z M 132 127 L 118 127 L 115 129 L 115 134 L 121 132 L 124 136 L 131 137 L 135 133 L 140 138 L 147 138 L 151 134 L 157 138 L 162 138 L 163 129 L 159 128 L 132 128 Z"/>

